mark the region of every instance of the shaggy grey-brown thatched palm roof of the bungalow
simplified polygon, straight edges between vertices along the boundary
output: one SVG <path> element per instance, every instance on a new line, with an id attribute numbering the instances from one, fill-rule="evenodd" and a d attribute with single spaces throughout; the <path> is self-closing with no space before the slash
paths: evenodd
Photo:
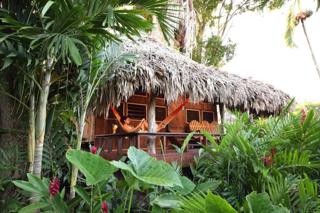
<path id="1" fill-rule="evenodd" d="M 108 105 L 118 106 L 126 102 L 141 85 L 164 94 L 167 103 L 175 102 L 179 95 L 189 95 L 190 101 L 208 100 L 224 103 L 228 107 L 244 105 L 259 113 L 278 113 L 291 97 L 262 81 L 243 78 L 216 67 L 207 67 L 180 54 L 177 50 L 149 37 L 138 44 L 128 40 L 125 52 L 138 52 L 140 60 L 131 67 L 132 72 L 106 82 L 98 91 L 96 113 L 108 113 Z"/>

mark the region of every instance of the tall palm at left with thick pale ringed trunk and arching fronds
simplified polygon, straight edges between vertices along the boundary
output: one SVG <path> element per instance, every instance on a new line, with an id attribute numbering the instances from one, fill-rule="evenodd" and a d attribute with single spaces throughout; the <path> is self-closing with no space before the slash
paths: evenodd
<path id="1" fill-rule="evenodd" d="M 140 37 L 140 31 L 152 29 L 152 23 L 139 15 L 143 12 L 157 18 L 167 41 L 167 36 L 173 38 L 173 32 L 167 25 L 172 21 L 168 10 L 172 5 L 165 4 L 166 2 L 167 0 L 20 1 L 23 12 L 18 14 L 12 12 L 15 5 L 11 4 L 15 4 L 14 1 L 4 1 L 3 10 L 0 12 L 3 23 L 3 37 L 0 42 L 28 49 L 35 58 L 34 70 L 40 71 L 41 75 L 41 78 L 37 79 L 25 70 L 27 78 L 33 80 L 40 93 L 35 122 L 33 173 L 36 176 L 41 176 L 46 106 L 52 73 L 60 64 L 72 63 L 80 66 L 83 59 L 79 49 L 82 47 L 88 50 L 88 44 L 92 40 L 97 39 L 101 45 L 105 45 L 104 38 L 108 41 L 119 41 L 115 32 L 133 39 L 131 35 Z M 139 6 L 146 11 L 127 10 L 124 9 L 126 5 Z M 12 60 L 10 54 L 3 59 L 6 67 L 19 62 L 19 58 Z"/>

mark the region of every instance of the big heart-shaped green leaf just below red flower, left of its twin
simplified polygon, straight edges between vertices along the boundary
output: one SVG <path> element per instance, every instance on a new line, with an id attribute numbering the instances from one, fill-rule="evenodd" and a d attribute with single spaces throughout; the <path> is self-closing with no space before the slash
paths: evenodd
<path id="1" fill-rule="evenodd" d="M 66 157 L 86 177 L 87 185 L 92 185 L 107 179 L 116 168 L 109 161 L 90 152 L 68 149 Z"/>

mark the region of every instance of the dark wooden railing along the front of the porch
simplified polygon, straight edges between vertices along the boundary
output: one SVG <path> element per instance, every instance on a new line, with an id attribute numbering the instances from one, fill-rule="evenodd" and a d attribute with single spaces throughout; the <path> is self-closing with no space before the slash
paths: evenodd
<path id="1" fill-rule="evenodd" d="M 100 147 L 103 151 L 107 151 L 109 153 L 123 153 L 123 144 L 124 139 L 129 139 L 129 147 L 134 146 L 138 149 L 141 148 L 140 138 L 146 136 L 155 136 L 160 137 L 160 140 L 163 144 L 164 153 L 167 152 L 166 141 L 168 137 L 183 137 L 186 138 L 189 133 L 141 133 L 141 132 L 133 132 L 133 133 L 116 133 L 116 134 L 104 134 L 104 135 L 96 135 L 94 138 L 94 145 L 96 147 Z M 220 134 L 211 134 L 214 138 L 220 138 Z M 202 133 L 195 133 L 194 137 L 200 137 L 200 141 L 202 144 L 207 145 L 207 138 Z M 116 151 L 113 151 L 113 145 L 116 144 Z M 197 147 L 198 144 L 192 144 L 192 147 Z M 185 152 L 189 151 L 189 146 L 186 147 Z"/>

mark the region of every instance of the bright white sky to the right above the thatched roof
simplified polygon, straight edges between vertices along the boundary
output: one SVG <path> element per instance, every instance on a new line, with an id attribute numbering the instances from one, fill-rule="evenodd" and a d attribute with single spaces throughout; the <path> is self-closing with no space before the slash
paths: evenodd
<path id="1" fill-rule="evenodd" d="M 315 11 L 313 0 L 301 6 Z M 303 5 L 304 4 L 304 5 Z M 307 4 L 307 5 L 306 5 Z M 301 23 L 296 27 L 296 49 L 286 46 L 284 32 L 289 4 L 281 10 L 247 12 L 234 17 L 227 37 L 238 43 L 236 56 L 221 68 L 223 71 L 263 80 L 299 100 L 320 101 L 320 79 L 313 63 Z M 305 8 L 302 8 L 304 11 Z M 296 12 L 297 13 L 297 12 Z M 305 21 L 311 46 L 320 63 L 320 11 Z"/>

